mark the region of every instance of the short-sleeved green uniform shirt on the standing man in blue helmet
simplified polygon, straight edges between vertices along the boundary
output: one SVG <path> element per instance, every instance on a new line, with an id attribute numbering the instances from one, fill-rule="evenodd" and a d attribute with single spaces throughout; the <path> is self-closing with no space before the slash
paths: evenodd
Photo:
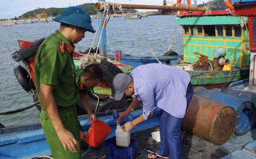
<path id="1" fill-rule="evenodd" d="M 68 107 L 79 98 L 76 93 L 75 67 L 72 53 L 75 46 L 56 30 L 38 48 L 35 59 L 34 75 L 39 97 L 40 83 L 54 85 L 52 94 L 57 106 Z"/>

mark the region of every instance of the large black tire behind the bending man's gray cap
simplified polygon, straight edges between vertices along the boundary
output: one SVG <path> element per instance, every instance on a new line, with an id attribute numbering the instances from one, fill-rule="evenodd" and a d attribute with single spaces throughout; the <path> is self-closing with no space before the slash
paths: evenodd
<path id="1" fill-rule="evenodd" d="M 102 63 L 99 64 L 99 66 L 103 70 L 103 79 L 111 87 L 111 91 L 112 91 L 111 97 L 113 97 L 113 95 L 114 95 L 114 87 L 112 85 L 113 79 L 117 74 L 123 73 L 123 72 L 116 65 L 114 65 L 111 62 L 108 62 L 106 60 L 102 60 Z M 126 98 L 126 96 L 124 95 L 124 97 L 122 99 L 125 99 L 125 98 Z M 96 106 L 98 103 L 98 98 L 96 96 L 94 96 L 91 93 L 91 91 L 89 91 L 89 93 L 88 93 L 88 101 L 89 101 L 89 105 L 90 105 L 92 112 L 95 112 Z M 110 103 L 112 101 L 114 101 L 114 99 L 112 99 L 110 97 L 105 98 L 105 99 L 99 99 L 99 105 L 98 105 L 96 112 L 99 112 L 99 110 L 103 107 L 103 105 Z"/>

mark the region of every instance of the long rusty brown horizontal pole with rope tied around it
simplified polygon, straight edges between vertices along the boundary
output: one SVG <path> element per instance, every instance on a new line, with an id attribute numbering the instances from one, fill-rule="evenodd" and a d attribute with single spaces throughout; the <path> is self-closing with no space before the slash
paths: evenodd
<path id="1" fill-rule="evenodd" d="M 115 7 L 118 5 L 113 3 Z M 122 8 L 126 9 L 157 9 L 157 10 L 191 10 L 191 11 L 206 11 L 206 8 L 194 7 L 176 7 L 176 6 L 153 6 L 153 5 L 138 5 L 138 4 L 121 4 Z M 100 3 L 96 3 L 96 8 L 100 9 Z"/>

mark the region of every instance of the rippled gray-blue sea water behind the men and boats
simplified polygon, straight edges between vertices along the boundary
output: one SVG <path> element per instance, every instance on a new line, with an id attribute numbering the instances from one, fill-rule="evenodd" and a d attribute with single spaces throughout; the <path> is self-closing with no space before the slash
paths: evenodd
<path id="1" fill-rule="evenodd" d="M 146 18 L 130 20 L 142 38 L 157 56 L 168 51 L 175 28 L 175 16 L 148 16 Z M 15 62 L 11 54 L 19 50 L 17 40 L 35 41 L 46 38 L 58 30 L 60 23 L 32 23 L 17 24 L 15 26 L 0 27 L 0 112 L 16 110 L 33 104 L 32 97 L 18 83 L 13 69 L 22 65 Z M 98 19 L 92 22 L 97 29 Z M 90 48 L 95 34 L 86 32 L 85 38 L 76 44 L 76 51 Z M 125 54 L 136 56 L 152 56 L 148 47 L 142 42 L 128 20 L 124 18 L 110 18 L 106 27 L 107 54 L 115 50 L 122 50 Z M 98 40 L 98 35 L 96 35 Z M 182 28 L 177 26 L 172 50 L 183 53 Z M 93 46 L 96 44 L 94 43 Z M 8 126 L 36 123 L 40 121 L 40 113 L 36 107 L 10 115 L 0 115 L 0 123 Z"/>

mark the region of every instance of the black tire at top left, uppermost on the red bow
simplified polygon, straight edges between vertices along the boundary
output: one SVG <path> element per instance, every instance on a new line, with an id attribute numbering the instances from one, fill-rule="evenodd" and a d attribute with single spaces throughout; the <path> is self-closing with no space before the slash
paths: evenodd
<path id="1" fill-rule="evenodd" d="M 33 57 L 36 54 L 39 46 L 42 44 L 43 41 L 44 41 L 44 38 L 34 42 L 33 44 L 31 44 L 30 46 L 24 49 L 17 50 L 12 54 L 13 60 L 16 62 L 19 62 L 19 61 L 28 60 L 29 58 Z"/>

